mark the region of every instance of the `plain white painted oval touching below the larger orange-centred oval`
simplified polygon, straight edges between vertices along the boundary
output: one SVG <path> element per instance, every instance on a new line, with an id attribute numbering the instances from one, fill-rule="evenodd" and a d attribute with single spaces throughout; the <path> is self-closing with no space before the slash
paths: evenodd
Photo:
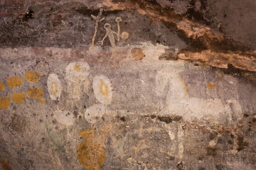
<path id="1" fill-rule="evenodd" d="M 101 118 L 105 112 L 106 109 L 104 105 L 92 105 L 86 109 L 84 119 L 87 120 L 87 122 L 94 123 L 97 119 Z"/>

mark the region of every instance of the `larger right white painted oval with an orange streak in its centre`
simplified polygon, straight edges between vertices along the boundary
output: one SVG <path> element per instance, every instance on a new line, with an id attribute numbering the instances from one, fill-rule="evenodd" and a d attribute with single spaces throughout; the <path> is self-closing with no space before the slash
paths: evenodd
<path id="1" fill-rule="evenodd" d="M 96 76 L 93 79 L 93 92 L 96 99 L 102 104 L 110 104 L 113 88 L 111 81 L 106 76 Z"/>

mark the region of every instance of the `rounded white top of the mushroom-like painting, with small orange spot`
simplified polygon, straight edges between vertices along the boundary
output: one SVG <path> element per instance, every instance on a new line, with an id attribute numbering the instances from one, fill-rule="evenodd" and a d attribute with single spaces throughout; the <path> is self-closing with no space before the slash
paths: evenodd
<path id="1" fill-rule="evenodd" d="M 83 81 L 89 75 L 90 66 L 86 62 L 71 62 L 66 67 L 66 79 L 77 82 Z"/>

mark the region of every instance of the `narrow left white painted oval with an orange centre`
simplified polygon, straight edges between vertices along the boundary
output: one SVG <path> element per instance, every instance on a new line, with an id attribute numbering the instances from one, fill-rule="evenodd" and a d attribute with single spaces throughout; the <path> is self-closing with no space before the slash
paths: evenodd
<path id="1" fill-rule="evenodd" d="M 47 80 L 49 96 L 52 100 L 59 100 L 61 96 L 62 86 L 57 74 L 50 74 Z"/>

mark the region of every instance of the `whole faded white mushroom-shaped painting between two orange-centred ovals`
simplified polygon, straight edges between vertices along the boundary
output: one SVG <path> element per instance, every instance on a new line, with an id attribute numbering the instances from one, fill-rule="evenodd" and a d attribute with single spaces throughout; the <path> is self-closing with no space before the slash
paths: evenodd
<path id="1" fill-rule="evenodd" d="M 67 79 L 67 93 L 70 99 L 79 100 L 82 91 L 88 89 L 89 73 L 90 66 L 86 62 L 72 62 L 67 65 L 65 79 Z"/>

